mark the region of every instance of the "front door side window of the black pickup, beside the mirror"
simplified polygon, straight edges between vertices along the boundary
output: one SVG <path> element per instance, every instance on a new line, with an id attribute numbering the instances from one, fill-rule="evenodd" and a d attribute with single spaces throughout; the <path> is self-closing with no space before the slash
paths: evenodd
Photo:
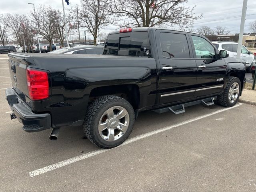
<path id="1" fill-rule="evenodd" d="M 191 37 L 196 51 L 196 58 L 212 59 L 215 57 L 215 49 L 207 40 L 194 35 Z"/>

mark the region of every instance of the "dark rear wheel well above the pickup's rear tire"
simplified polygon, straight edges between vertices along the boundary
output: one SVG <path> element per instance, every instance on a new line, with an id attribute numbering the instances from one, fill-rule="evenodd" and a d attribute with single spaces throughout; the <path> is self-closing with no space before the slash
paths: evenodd
<path id="1" fill-rule="evenodd" d="M 90 92 L 89 103 L 103 95 L 116 95 L 127 100 L 134 109 L 139 108 L 140 91 L 137 85 L 114 85 L 94 88 Z"/>

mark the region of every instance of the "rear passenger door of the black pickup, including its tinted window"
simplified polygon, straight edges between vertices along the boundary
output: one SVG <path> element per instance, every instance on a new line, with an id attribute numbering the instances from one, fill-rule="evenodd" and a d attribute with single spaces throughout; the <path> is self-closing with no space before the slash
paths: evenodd
<path id="1" fill-rule="evenodd" d="M 196 62 L 192 58 L 188 33 L 156 30 L 160 61 L 160 104 L 193 98 Z"/>

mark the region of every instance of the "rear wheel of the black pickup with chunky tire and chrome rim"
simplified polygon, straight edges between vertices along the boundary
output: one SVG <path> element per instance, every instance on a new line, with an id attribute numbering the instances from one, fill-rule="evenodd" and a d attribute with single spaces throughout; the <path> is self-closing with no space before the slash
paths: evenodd
<path id="1" fill-rule="evenodd" d="M 87 109 L 84 133 L 95 145 L 113 148 L 128 138 L 134 120 L 134 110 L 127 100 L 114 95 L 101 96 Z"/>

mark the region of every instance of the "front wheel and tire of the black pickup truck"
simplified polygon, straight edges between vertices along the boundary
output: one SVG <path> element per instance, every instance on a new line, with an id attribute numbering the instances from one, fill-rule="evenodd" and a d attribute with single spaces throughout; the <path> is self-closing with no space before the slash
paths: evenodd
<path id="1" fill-rule="evenodd" d="M 224 107 L 232 107 L 239 99 L 241 82 L 237 77 L 229 77 L 224 92 L 217 98 L 218 104 Z"/>

